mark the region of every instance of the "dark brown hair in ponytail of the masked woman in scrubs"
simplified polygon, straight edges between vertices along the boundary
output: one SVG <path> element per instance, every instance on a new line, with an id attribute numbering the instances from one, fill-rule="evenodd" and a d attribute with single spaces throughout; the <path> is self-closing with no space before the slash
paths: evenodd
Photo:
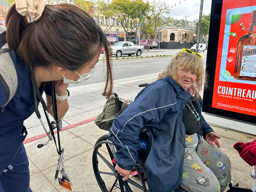
<path id="1" fill-rule="evenodd" d="M 10 49 L 32 68 L 56 65 L 76 71 L 93 60 L 103 46 L 107 67 L 104 93 L 111 95 L 113 66 L 109 43 L 88 13 L 72 4 L 46 5 L 41 18 L 29 22 L 13 4 L 5 22 Z"/>

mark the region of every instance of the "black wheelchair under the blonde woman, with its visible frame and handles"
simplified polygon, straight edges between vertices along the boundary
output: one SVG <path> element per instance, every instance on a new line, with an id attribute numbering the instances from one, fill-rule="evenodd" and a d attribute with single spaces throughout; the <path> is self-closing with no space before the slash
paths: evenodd
<path id="1" fill-rule="evenodd" d="M 147 85 L 148 85 L 148 83 L 147 84 L 139 84 L 139 87 L 144 87 Z M 122 106 L 122 101 L 119 100 L 119 97 L 116 93 L 113 92 L 113 94 L 115 95 L 115 98 L 116 98 L 117 112 L 119 112 L 121 109 L 121 106 Z M 114 188 L 119 188 L 121 192 L 132 192 L 132 189 L 130 188 L 129 184 L 132 186 L 135 186 L 136 188 L 139 188 L 143 192 L 148 192 L 148 189 L 146 188 L 146 183 L 145 183 L 145 182 L 147 182 L 147 175 L 146 175 L 146 170 L 144 167 L 144 164 L 146 162 L 147 156 L 150 151 L 149 132 L 148 132 L 147 127 L 143 127 L 141 129 L 140 135 L 139 135 L 139 140 L 143 142 L 143 143 L 140 142 L 140 145 L 141 144 L 146 145 L 146 149 L 144 149 L 143 147 L 139 148 L 138 160 L 137 160 L 136 165 L 134 165 L 133 170 L 136 170 L 138 172 L 138 176 L 140 178 L 141 185 L 136 183 L 135 181 L 131 180 L 130 178 L 128 178 L 126 181 L 123 181 L 122 180 L 123 177 L 115 170 L 116 162 L 115 162 L 115 156 L 113 155 L 111 147 L 110 147 L 111 145 L 113 145 L 113 143 L 110 139 L 110 134 L 105 134 L 105 135 L 101 136 L 96 141 L 94 149 L 93 149 L 93 154 L 92 154 L 92 167 L 93 167 L 93 172 L 94 172 L 95 178 L 96 178 L 97 183 L 102 192 L 111 192 L 111 191 L 113 191 Z M 108 155 L 109 155 L 110 159 L 112 160 L 111 163 L 103 155 L 100 154 L 99 148 L 102 147 L 102 145 L 106 145 L 107 150 L 108 150 Z M 110 168 L 110 170 L 112 172 L 100 172 L 99 171 L 98 156 L 104 161 L 105 164 L 107 164 L 107 166 Z M 114 176 L 116 178 L 115 182 L 113 183 L 113 185 L 110 189 L 108 189 L 106 187 L 105 182 L 102 179 L 102 177 L 100 176 L 100 174 Z M 236 184 L 233 187 L 232 184 L 230 183 L 229 188 L 230 189 L 227 192 L 252 192 L 251 189 L 239 188 L 238 184 Z M 184 190 L 179 186 L 173 192 L 189 192 L 189 191 Z"/>

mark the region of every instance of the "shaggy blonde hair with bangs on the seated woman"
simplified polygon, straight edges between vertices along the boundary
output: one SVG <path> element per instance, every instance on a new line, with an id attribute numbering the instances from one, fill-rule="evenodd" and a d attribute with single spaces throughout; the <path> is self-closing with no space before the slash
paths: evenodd
<path id="1" fill-rule="evenodd" d="M 204 87 L 206 87 L 207 84 L 207 75 L 204 70 L 203 61 L 195 54 L 188 54 L 186 52 L 182 52 L 180 55 L 179 54 L 180 52 L 174 55 L 164 71 L 158 75 L 158 79 L 170 76 L 173 80 L 180 84 L 181 87 L 183 87 L 182 83 L 177 78 L 177 71 L 179 68 L 189 69 L 197 75 L 196 81 L 192 87 L 195 90 L 195 99 L 199 99 L 203 84 Z"/>

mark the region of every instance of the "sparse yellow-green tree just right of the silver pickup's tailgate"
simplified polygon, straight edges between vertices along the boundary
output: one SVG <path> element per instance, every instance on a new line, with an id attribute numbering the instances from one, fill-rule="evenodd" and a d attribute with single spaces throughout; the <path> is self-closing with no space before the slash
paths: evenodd
<path id="1" fill-rule="evenodd" d="M 148 16 L 143 20 L 142 25 L 142 36 L 151 39 L 149 45 L 152 44 L 155 36 L 159 33 L 162 28 L 166 27 L 171 23 L 171 13 L 169 4 L 165 2 L 152 1 L 150 3 L 150 11 Z M 148 46 L 149 51 L 150 46 Z"/>

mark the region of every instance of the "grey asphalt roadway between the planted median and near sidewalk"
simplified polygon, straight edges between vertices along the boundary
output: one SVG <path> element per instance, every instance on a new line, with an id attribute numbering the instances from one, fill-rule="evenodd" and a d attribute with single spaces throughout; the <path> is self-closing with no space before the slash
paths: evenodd
<path id="1" fill-rule="evenodd" d="M 114 80 L 161 72 L 164 70 L 170 60 L 171 57 L 133 61 L 121 60 L 119 62 L 114 60 Z M 203 55 L 203 61 L 205 63 L 206 53 Z M 96 65 L 94 75 L 90 79 L 83 84 L 70 84 L 69 87 L 104 82 L 106 78 L 105 68 L 104 63 L 98 63 Z"/>

